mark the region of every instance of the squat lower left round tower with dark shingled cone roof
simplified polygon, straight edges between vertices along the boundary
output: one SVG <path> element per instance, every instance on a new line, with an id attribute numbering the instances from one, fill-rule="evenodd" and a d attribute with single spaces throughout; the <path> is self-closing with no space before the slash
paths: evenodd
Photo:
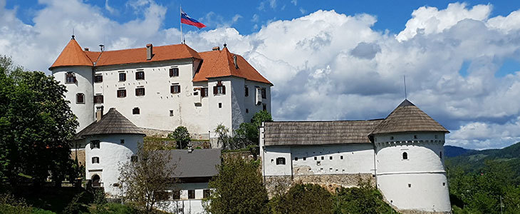
<path id="1" fill-rule="evenodd" d="M 110 195 L 120 195 L 119 165 L 137 161 L 137 145 L 144 136 L 115 108 L 76 134 L 85 145 L 85 176 L 92 186 L 103 187 Z"/>

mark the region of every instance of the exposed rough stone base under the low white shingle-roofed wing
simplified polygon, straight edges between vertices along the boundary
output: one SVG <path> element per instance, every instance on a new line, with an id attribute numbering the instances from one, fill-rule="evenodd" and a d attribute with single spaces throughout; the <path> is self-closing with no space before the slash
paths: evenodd
<path id="1" fill-rule="evenodd" d="M 291 188 L 291 185 L 300 183 L 313 183 L 321 185 L 331 193 L 336 191 L 336 188 L 357 187 L 361 180 L 370 180 L 370 183 L 375 185 L 375 179 L 370 173 L 359 174 L 331 174 L 331 175 L 284 175 L 284 176 L 265 176 L 264 177 L 269 198 L 274 194 L 284 193 Z"/>

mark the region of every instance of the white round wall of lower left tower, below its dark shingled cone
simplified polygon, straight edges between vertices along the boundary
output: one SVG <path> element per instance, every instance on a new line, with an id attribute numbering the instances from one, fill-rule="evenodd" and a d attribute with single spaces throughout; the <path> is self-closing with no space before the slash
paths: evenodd
<path id="1" fill-rule="evenodd" d="M 85 175 L 91 179 L 94 175 L 100 176 L 105 193 L 120 195 L 120 189 L 114 186 L 118 183 L 119 165 L 130 161 L 130 157 L 137 154 L 137 143 L 142 143 L 142 135 L 137 134 L 110 134 L 95 135 L 85 138 Z M 121 144 L 121 139 L 125 143 Z M 100 141 L 100 148 L 90 148 L 90 141 Z M 93 157 L 99 157 L 99 163 L 92 163 Z"/>

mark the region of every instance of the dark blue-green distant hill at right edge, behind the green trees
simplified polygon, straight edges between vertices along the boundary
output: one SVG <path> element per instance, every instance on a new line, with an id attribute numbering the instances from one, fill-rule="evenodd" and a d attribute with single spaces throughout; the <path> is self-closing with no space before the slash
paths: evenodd
<path id="1" fill-rule="evenodd" d="M 466 172 L 478 173 L 486 161 L 505 163 L 520 178 L 520 142 L 506 148 L 469 150 L 456 146 L 444 146 L 447 168 L 462 168 Z"/>

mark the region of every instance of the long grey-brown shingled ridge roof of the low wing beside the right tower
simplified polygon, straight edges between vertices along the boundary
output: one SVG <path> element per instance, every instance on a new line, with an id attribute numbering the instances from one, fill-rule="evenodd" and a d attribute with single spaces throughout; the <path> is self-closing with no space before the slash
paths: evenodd
<path id="1" fill-rule="evenodd" d="M 310 146 L 371 143 L 368 134 L 382 119 L 371 121 L 290 121 L 264 123 L 265 146 Z"/>

